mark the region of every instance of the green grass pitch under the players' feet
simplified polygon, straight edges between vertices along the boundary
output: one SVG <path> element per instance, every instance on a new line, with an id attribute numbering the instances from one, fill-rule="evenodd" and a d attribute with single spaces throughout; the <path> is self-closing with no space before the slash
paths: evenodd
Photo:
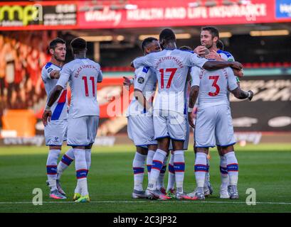
<path id="1" fill-rule="evenodd" d="M 64 146 L 62 154 L 68 147 Z M 75 188 L 75 165 L 63 174 L 62 185 L 68 199 L 48 198 L 46 186 L 46 147 L 0 148 L 0 212 L 291 212 L 291 143 L 236 145 L 239 162 L 238 190 L 240 199 L 219 199 L 219 156 L 211 150 L 211 183 L 213 195 L 205 201 L 149 201 L 132 199 L 133 145 L 112 148 L 94 147 L 88 187 L 92 202 L 71 201 Z M 193 191 L 194 153 L 191 146 L 185 153 L 184 190 Z M 167 172 L 165 184 L 167 182 Z M 147 184 L 145 173 L 144 188 Z M 34 206 L 33 189 L 43 191 L 43 205 Z M 255 189 L 255 206 L 245 204 L 248 188 Z"/>

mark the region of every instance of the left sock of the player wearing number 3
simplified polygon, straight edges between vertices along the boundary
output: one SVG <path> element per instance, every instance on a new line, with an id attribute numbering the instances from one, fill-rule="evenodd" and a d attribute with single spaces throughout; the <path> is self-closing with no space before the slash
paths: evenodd
<path id="1" fill-rule="evenodd" d="M 205 153 L 196 153 L 195 159 L 195 178 L 197 187 L 203 187 L 205 182 L 205 175 L 207 171 L 207 155 Z"/>

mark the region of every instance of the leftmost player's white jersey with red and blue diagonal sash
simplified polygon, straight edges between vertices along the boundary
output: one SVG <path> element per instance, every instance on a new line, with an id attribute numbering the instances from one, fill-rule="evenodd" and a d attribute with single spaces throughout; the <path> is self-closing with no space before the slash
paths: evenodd
<path id="1" fill-rule="evenodd" d="M 51 90 L 53 87 L 55 87 L 55 84 L 57 84 L 58 79 L 52 79 L 50 77 L 50 73 L 53 70 L 60 71 L 61 68 L 57 65 L 54 65 L 52 62 L 46 63 L 45 66 L 43 66 L 43 69 L 41 70 L 41 79 L 43 79 L 44 87 L 46 89 L 47 96 L 50 96 Z M 68 118 L 68 111 L 67 111 L 67 87 L 63 87 L 63 92 L 58 97 L 57 101 L 51 106 L 51 120 L 63 120 Z"/>

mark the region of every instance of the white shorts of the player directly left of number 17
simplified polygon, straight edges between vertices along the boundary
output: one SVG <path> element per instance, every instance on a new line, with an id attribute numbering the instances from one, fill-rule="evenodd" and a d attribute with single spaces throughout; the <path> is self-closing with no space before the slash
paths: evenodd
<path id="1" fill-rule="evenodd" d="M 147 145 L 156 145 L 154 140 L 154 123 L 152 116 L 128 116 L 127 133 L 136 146 L 147 148 Z"/>

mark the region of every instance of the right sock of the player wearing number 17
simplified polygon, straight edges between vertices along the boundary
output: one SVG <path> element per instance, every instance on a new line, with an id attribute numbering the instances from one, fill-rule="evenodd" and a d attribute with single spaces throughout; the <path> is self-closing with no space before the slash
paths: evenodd
<path id="1" fill-rule="evenodd" d="M 184 193 L 183 183 L 185 172 L 184 150 L 174 151 L 174 170 L 176 180 L 176 192 L 183 194 Z"/>

